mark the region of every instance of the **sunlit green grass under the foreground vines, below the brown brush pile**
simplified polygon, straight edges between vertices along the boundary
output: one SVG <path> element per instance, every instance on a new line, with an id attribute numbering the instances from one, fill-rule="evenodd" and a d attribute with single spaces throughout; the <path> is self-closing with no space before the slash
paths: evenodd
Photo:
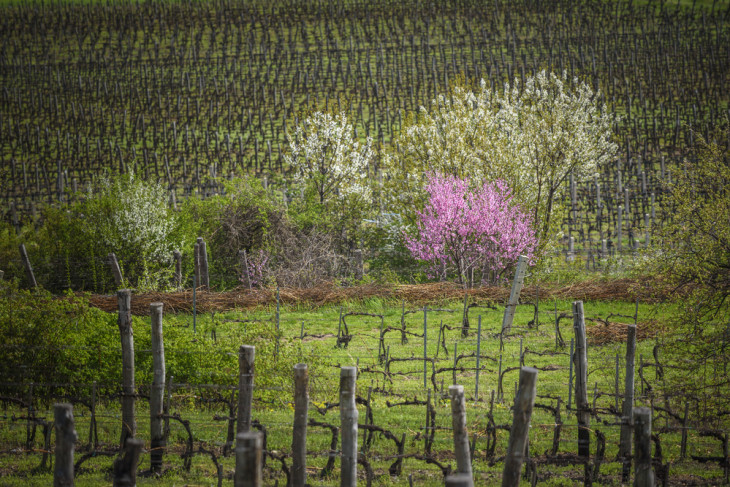
<path id="1" fill-rule="evenodd" d="M 478 303 L 484 304 L 484 303 Z M 538 404 L 554 406 L 557 397 L 563 399 L 562 419 L 565 425 L 562 430 L 560 452 L 576 453 L 576 423 L 575 415 L 572 411 L 565 410 L 565 403 L 568 396 L 568 348 L 567 346 L 555 346 L 554 333 L 554 306 L 557 305 L 558 312 L 568 312 L 570 310 L 570 302 L 567 301 L 548 301 L 541 303 L 540 326 L 528 327 L 527 323 L 533 318 L 533 309 L 528 306 L 521 306 L 515 319 L 515 325 L 512 334 L 504 340 L 504 350 L 502 356 L 502 370 L 509 367 L 517 367 L 519 365 L 520 344 L 523 350 L 529 352 L 525 356 L 525 364 L 538 368 L 548 368 L 550 370 L 542 370 L 538 374 Z M 431 312 L 428 316 L 427 325 L 427 350 L 429 357 L 435 357 L 437 354 L 436 338 L 441 320 L 450 326 L 456 326 L 461 318 L 460 302 L 442 302 L 432 303 L 432 308 L 448 308 L 456 310 L 454 313 L 448 312 Z M 371 299 L 364 302 L 346 303 L 342 306 L 343 312 L 361 311 L 372 314 L 383 314 L 385 326 L 400 326 L 401 307 L 398 303 L 388 302 L 382 299 Z M 406 306 L 407 310 L 416 309 L 412 305 Z M 671 308 L 659 308 L 649 305 L 639 306 L 639 327 L 648 323 L 649 320 L 662 321 L 666 319 Z M 586 302 L 585 314 L 587 318 L 600 317 L 607 318 L 610 314 L 632 315 L 634 313 L 634 304 L 623 302 Z M 244 324 L 240 322 L 230 322 L 227 320 L 234 319 L 256 319 L 266 320 L 274 316 L 275 309 L 273 307 L 260 308 L 253 311 L 238 311 L 217 313 L 211 315 L 199 315 L 196 322 L 196 334 L 201 340 L 206 340 L 212 334 L 212 330 L 216 330 L 219 342 L 226 343 L 223 340 L 225 336 L 235 335 L 240 332 L 240 327 Z M 424 421 L 426 417 L 426 408 L 423 405 L 402 405 L 388 407 L 391 404 L 403 402 L 405 400 L 425 400 L 427 398 L 427 389 L 433 389 L 430 378 L 426 387 L 423 384 L 423 362 L 399 362 L 391 364 L 392 383 L 390 380 L 383 378 L 380 372 L 383 365 L 378 363 L 378 334 L 380 320 L 372 317 L 355 317 L 351 316 L 347 320 L 350 332 L 353 334 L 352 341 L 347 348 L 335 347 L 335 336 L 337 334 L 338 320 L 340 314 L 339 306 L 325 306 L 311 308 L 307 306 L 283 307 L 281 313 L 281 340 L 282 344 L 288 341 L 295 346 L 301 345 L 304 355 L 311 353 L 316 357 L 316 362 L 310 364 L 314 367 L 314 373 L 311 378 L 311 406 L 309 416 L 311 419 L 323 421 L 334 425 L 339 424 L 339 413 L 337 408 L 330 409 L 326 414 L 320 414 L 313 406 L 324 407 L 327 403 L 338 401 L 338 368 L 340 365 L 356 365 L 359 364 L 360 374 L 358 377 L 358 392 L 360 397 L 366 398 L 368 389 L 373 388 L 371 392 L 374 424 L 392 431 L 397 437 L 405 434 L 406 447 L 405 453 L 420 453 L 424 451 Z M 477 316 L 482 316 L 482 341 L 481 341 L 481 370 L 479 382 L 479 394 L 475 395 L 476 373 L 474 370 L 475 359 L 467 358 L 460 362 L 471 370 L 459 372 L 457 374 L 457 382 L 464 386 L 467 406 L 467 422 L 470 433 L 476 438 L 476 453 L 474 460 L 475 476 L 481 479 L 482 484 L 492 484 L 498 482 L 501 476 L 501 461 L 491 464 L 485 459 L 487 438 L 485 435 L 488 413 L 490 410 L 491 392 L 498 389 L 497 373 L 499 367 L 499 338 L 497 333 L 501 326 L 502 311 L 494 311 L 486 308 L 473 308 L 470 313 L 472 323 L 472 334 L 467 338 L 461 338 L 459 330 L 451 330 L 446 332 L 446 344 L 448 355 L 443 348 L 438 351 L 437 367 L 449 367 L 453 363 L 453 347 L 458 347 L 458 353 L 471 353 L 475 351 L 476 325 Z M 628 323 L 630 318 L 613 318 L 611 321 Z M 188 326 L 187 332 L 193 333 L 190 324 L 192 317 L 189 315 L 168 315 L 165 317 L 165 327 L 181 327 Z M 304 333 L 307 335 L 326 335 L 323 338 L 314 338 L 305 336 L 301 343 L 300 334 L 302 332 L 302 323 L 304 324 Z M 141 319 L 135 321 L 136 335 L 145 333 L 148 329 L 144 325 L 148 325 L 148 320 Z M 422 333 L 423 330 L 423 313 L 417 312 L 408 314 L 406 318 L 407 330 L 412 333 Z M 268 326 L 274 326 L 270 322 Z M 589 329 L 593 326 L 589 321 Z M 570 341 L 573 336 L 572 320 L 562 319 L 560 321 L 560 332 L 566 342 Z M 591 332 L 589 331 L 589 337 Z M 208 338 L 206 338 L 208 337 Z M 652 356 L 652 348 L 657 343 L 656 339 L 640 341 L 637 349 L 638 357 L 641 355 L 645 362 L 648 362 Z M 389 332 L 385 337 L 386 347 L 390 347 L 390 356 L 397 358 L 422 357 L 423 355 L 423 338 L 410 336 L 406 344 L 401 344 L 400 333 L 397 331 Z M 296 348 L 296 347 L 295 347 Z M 217 350 L 211 345 L 210 353 L 234 352 L 234 350 Z M 530 352 L 539 352 L 545 354 L 556 353 L 555 355 L 545 354 L 537 355 Z M 589 345 L 589 376 L 588 384 L 589 402 L 592 403 L 592 391 L 597 385 L 601 395 L 596 399 L 596 406 L 599 410 L 599 417 L 608 422 L 608 424 L 597 423 L 596 419 L 592 419 L 594 428 L 603 432 L 606 436 L 606 459 L 602 467 L 602 474 L 605 478 L 601 481 L 609 485 L 617 485 L 618 472 L 620 466 L 615 462 L 618 445 L 619 428 L 616 425 L 617 418 L 610 416 L 605 412 L 606 409 L 613 407 L 614 397 L 612 396 L 614 380 L 615 380 L 615 357 L 619 355 L 623 361 L 625 354 L 625 345 L 623 343 L 609 343 L 602 346 Z M 264 359 L 263 357 L 261 358 Z M 493 359 L 493 360 L 492 360 Z M 430 368 L 430 367 L 429 367 Z M 372 371 L 372 372 L 368 372 Z M 403 375 L 397 375 L 402 373 Z M 503 400 L 496 401 L 493 405 L 494 421 L 497 425 L 508 425 L 512 421 L 510 405 L 514 400 L 515 382 L 517 381 L 517 370 L 507 372 L 504 377 Z M 661 383 L 654 380 L 654 370 L 647 368 L 645 370 L 646 379 L 655 387 L 655 397 L 659 401 L 661 392 Z M 202 378 L 201 378 L 202 379 Z M 274 386 L 269 391 L 257 391 L 257 397 L 267 400 L 255 401 L 254 419 L 261 421 L 268 431 L 268 448 L 281 453 L 287 453 L 291 448 L 291 421 L 293 417 L 292 411 L 292 391 L 291 381 L 287 377 L 282 377 L 282 386 Z M 637 405 L 645 405 L 650 401 L 650 396 L 640 397 L 640 387 L 637 373 Z M 444 389 L 451 384 L 451 372 L 445 372 L 438 375 L 437 390 L 432 391 L 432 401 L 436 411 L 436 427 L 437 431 L 434 438 L 433 449 L 436 457 L 444 464 L 453 464 L 453 458 L 450 451 L 453 443 L 450 435 L 450 405 L 447 396 L 442 393 L 441 384 Z M 619 383 L 623 389 L 623 377 L 620 377 Z M 287 385 L 288 384 L 288 385 Z M 273 394 L 272 394 L 273 393 Z M 224 416 L 227 410 L 220 404 L 206 405 L 202 400 L 205 389 L 198 387 L 178 386 L 175 388 L 172 402 L 172 412 L 179 412 L 184 419 L 191 421 L 191 429 L 195 440 L 195 449 L 199 445 L 203 445 L 206 449 L 213 449 L 220 456 L 221 448 L 226 438 L 225 421 L 214 421 L 213 417 L 218 414 Z M 575 398 L 572 398 L 575 405 Z M 146 401 L 138 402 L 137 421 L 139 427 L 138 436 L 149 441 L 148 431 L 148 412 Z M 360 422 L 365 420 L 365 408 L 359 406 Z M 25 449 L 25 422 L 13 421 L 12 415 L 22 414 L 22 411 L 8 408 L 3 417 L 3 427 L 0 428 L 0 444 L 3 454 L 0 455 L 0 471 L 4 477 L 0 480 L 3 485 L 47 485 L 50 482 L 51 474 L 49 472 L 39 472 L 37 470 L 40 464 L 40 453 L 27 453 Z M 46 418 L 52 416 L 50 409 L 43 411 Z M 77 431 L 79 432 L 79 443 L 77 448 L 82 448 L 87 444 L 88 440 L 88 421 L 89 414 L 83 406 L 76 406 Z M 120 432 L 119 409 L 116 402 L 105 404 L 99 411 L 99 437 L 102 442 L 102 449 L 113 448 L 118 441 Z M 552 445 L 554 417 L 544 409 L 537 408 L 532 418 L 532 432 L 530 435 L 530 451 L 533 456 L 541 457 L 546 451 L 549 451 Z M 664 418 L 655 419 L 655 428 L 663 426 L 677 426 L 674 422 L 667 422 Z M 39 435 L 40 436 L 40 435 Z M 679 457 L 679 439 L 678 432 L 663 433 L 661 436 L 661 444 L 665 456 L 665 461 L 674 462 L 672 465 L 672 475 L 699 475 L 705 479 L 717 478 L 722 475 L 721 470 L 716 464 L 708 464 L 700 467 L 691 461 L 678 461 Z M 140 485 L 214 485 L 215 469 L 210 457 L 205 455 L 196 455 L 193 461 L 193 468 L 190 473 L 182 471 L 181 460 L 179 454 L 184 449 L 186 434 L 183 428 L 176 422 L 171 422 L 170 441 L 172 443 L 173 453 L 165 456 L 165 464 L 168 473 L 162 479 L 151 479 L 142 477 L 139 480 Z M 329 430 L 323 428 L 309 428 L 308 432 L 308 450 L 311 453 L 308 457 L 308 465 L 310 467 L 310 480 L 313 485 L 338 485 L 339 461 L 335 464 L 335 471 L 332 476 L 325 479 L 316 479 L 315 473 L 318 469 L 324 467 L 327 461 L 327 450 L 331 435 Z M 592 451 L 595 449 L 595 436 L 592 435 L 593 444 Z M 497 445 L 495 455 L 497 458 L 505 454 L 508 441 L 508 433 L 504 430 L 497 431 Z M 362 444 L 362 432 L 360 435 Z M 36 449 L 42 447 L 40 440 L 36 441 Z M 15 452 L 17 451 L 17 453 Z M 21 453 L 22 452 L 22 453 Z M 721 455 L 719 443 L 715 440 L 700 438 L 697 432 L 690 431 L 690 454 L 697 455 Z M 440 471 L 432 465 L 427 465 L 423 461 L 415 459 L 407 459 L 403 464 L 403 473 L 398 478 L 391 478 L 388 475 L 388 467 L 392 463 L 392 459 L 388 459 L 389 455 L 396 453 L 392 441 L 376 435 L 369 452 L 369 461 L 371 462 L 376 479 L 374 485 L 408 485 L 408 474 L 413 475 L 414 484 L 416 485 L 443 485 Z M 81 452 L 77 452 L 79 458 Z M 232 457 L 221 458 L 221 464 L 225 475 L 230 475 L 234 469 L 234 461 Z M 111 458 L 101 457 L 84 463 L 84 471 L 78 477 L 78 485 L 99 485 L 109 482 L 109 467 Z M 273 485 L 274 480 L 278 478 L 279 482 L 284 481 L 283 474 L 278 468 L 277 462 L 268 461 L 269 466 L 273 469 L 267 471 L 267 485 Z M 148 454 L 142 455 L 140 469 L 144 470 L 149 466 Z M 539 466 L 538 474 L 541 483 L 545 485 L 578 485 L 582 482 L 582 467 L 575 465 L 572 467 L 555 467 L 555 466 Z"/>

